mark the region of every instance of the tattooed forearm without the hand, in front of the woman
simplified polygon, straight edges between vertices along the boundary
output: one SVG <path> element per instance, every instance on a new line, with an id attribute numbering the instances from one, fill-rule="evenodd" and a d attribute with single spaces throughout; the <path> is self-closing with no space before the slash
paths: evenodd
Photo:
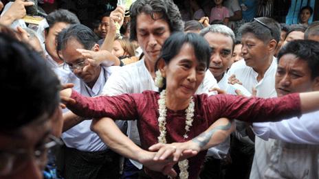
<path id="1" fill-rule="evenodd" d="M 200 150 L 207 150 L 210 147 L 219 145 L 234 131 L 234 122 L 221 118 L 212 123 L 210 128 L 191 141 L 199 145 Z"/>

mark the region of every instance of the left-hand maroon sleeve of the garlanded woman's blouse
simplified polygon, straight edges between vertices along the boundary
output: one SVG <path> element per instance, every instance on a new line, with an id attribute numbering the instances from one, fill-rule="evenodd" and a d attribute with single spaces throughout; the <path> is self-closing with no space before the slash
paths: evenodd
<path id="1" fill-rule="evenodd" d="M 81 117 L 133 120 L 138 116 L 135 102 L 141 97 L 142 94 L 85 97 L 72 90 L 71 98 L 76 100 L 76 104 L 67 105 L 67 108 Z"/>

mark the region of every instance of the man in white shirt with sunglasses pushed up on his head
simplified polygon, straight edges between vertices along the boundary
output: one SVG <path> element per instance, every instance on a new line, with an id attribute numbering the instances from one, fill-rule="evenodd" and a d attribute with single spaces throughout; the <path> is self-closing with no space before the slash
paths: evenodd
<path id="1" fill-rule="evenodd" d="M 242 82 L 243 86 L 252 93 L 252 88 L 256 88 L 257 97 L 276 97 L 275 75 L 277 69 L 277 60 L 274 58 L 277 44 L 281 38 L 281 27 L 267 17 L 254 19 L 250 23 L 245 23 L 239 28 L 241 34 L 241 51 L 243 59 L 232 64 L 228 71 L 229 75 L 236 75 L 236 78 Z M 256 137 L 255 152 L 254 147 L 250 144 L 238 142 L 237 147 L 244 149 L 245 152 L 238 152 L 237 158 L 232 158 L 234 163 L 237 163 L 238 168 L 234 169 L 231 174 L 247 175 L 250 172 L 252 157 L 252 171 L 250 178 L 259 178 L 259 174 L 264 173 L 266 150 L 272 145 L 271 142 L 263 141 Z M 250 148 L 250 151 L 247 150 Z M 240 150 L 236 150 L 240 151 Z M 247 163 L 248 165 L 244 165 Z M 237 166 L 237 165 L 236 165 Z M 245 178 L 245 176 L 234 176 L 236 178 Z"/>

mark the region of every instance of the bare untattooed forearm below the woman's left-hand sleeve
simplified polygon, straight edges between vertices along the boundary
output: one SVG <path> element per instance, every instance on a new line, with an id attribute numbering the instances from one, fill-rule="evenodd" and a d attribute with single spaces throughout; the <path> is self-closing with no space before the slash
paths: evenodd
<path id="1" fill-rule="evenodd" d="M 144 153 L 144 150 L 124 135 L 118 126 L 116 126 L 113 119 L 104 117 L 95 120 L 91 129 L 100 136 L 100 139 L 102 139 L 111 150 L 126 158 L 140 161 L 139 156 Z"/>

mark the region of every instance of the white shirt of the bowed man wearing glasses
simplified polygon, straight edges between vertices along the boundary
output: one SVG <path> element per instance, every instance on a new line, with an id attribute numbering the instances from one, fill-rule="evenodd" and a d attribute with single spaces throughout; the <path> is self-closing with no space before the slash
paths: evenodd
<path id="1" fill-rule="evenodd" d="M 80 80 L 71 71 L 65 71 L 63 69 L 55 69 L 58 77 L 61 79 L 61 83 L 73 83 L 74 90 L 85 96 L 97 96 L 102 93 L 102 88 L 107 79 L 113 71 L 120 71 L 120 67 L 102 67 L 98 80 L 94 84 L 93 88 L 89 88 L 85 82 Z M 63 112 L 67 112 L 63 111 Z M 122 123 L 117 123 L 122 128 Z M 70 128 L 66 132 L 63 132 L 62 139 L 67 147 L 76 148 L 85 152 L 96 152 L 106 150 L 107 146 L 101 141 L 98 134 L 90 130 L 91 120 L 85 120 L 78 125 Z"/>

